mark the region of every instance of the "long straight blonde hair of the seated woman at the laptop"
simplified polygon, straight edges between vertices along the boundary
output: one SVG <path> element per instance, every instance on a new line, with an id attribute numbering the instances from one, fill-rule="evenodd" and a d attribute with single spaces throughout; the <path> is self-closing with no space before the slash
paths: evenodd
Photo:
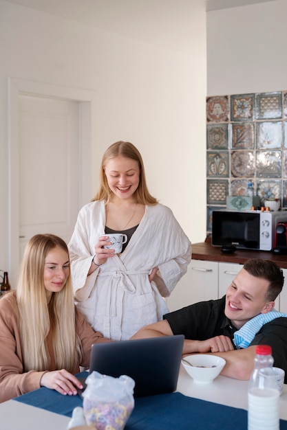
<path id="1" fill-rule="evenodd" d="M 64 240 L 52 234 L 36 234 L 25 247 L 16 292 L 24 372 L 49 369 L 47 335 L 50 330 L 56 369 L 72 372 L 81 362 L 70 273 L 62 291 L 52 293 L 47 304 L 43 281 L 45 258 L 55 247 L 69 255 Z"/>

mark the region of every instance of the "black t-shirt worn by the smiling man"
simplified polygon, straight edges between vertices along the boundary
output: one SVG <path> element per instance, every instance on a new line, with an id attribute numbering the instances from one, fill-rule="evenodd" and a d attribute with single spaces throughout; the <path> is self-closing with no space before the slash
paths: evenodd
<path id="1" fill-rule="evenodd" d="M 198 302 L 164 315 L 173 335 L 204 341 L 225 335 L 233 341 L 235 328 L 224 314 L 225 295 L 222 299 Z M 285 370 L 287 383 L 287 318 L 273 319 L 257 332 L 250 346 L 269 345 L 272 348 L 274 366 Z M 234 346 L 234 344 L 233 344 Z M 235 346 L 234 346 L 235 348 Z"/>

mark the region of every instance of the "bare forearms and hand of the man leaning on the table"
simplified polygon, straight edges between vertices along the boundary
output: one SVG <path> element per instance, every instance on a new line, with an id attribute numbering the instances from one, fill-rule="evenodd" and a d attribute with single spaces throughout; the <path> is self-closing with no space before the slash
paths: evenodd
<path id="1" fill-rule="evenodd" d="M 172 336 L 171 326 L 166 319 L 143 327 L 131 339 L 146 337 Z M 254 366 L 256 346 L 248 346 L 242 350 L 234 350 L 231 340 L 226 336 L 216 336 L 205 341 L 184 340 L 182 355 L 214 354 L 226 360 L 221 374 L 229 378 L 248 380 Z"/>

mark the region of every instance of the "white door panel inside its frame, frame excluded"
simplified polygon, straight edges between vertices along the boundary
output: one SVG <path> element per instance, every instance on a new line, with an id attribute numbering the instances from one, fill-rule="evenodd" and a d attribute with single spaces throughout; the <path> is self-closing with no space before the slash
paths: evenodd
<path id="1" fill-rule="evenodd" d="M 78 105 L 19 95 L 19 261 L 34 234 L 70 240 L 80 207 Z"/>

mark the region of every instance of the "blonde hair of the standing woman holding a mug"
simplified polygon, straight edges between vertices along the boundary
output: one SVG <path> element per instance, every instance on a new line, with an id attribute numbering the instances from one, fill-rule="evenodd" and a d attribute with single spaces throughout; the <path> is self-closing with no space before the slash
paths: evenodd
<path id="1" fill-rule="evenodd" d="M 115 157 L 126 157 L 132 160 L 135 160 L 138 163 L 138 167 L 140 168 L 140 182 L 138 184 L 138 188 L 134 193 L 134 197 L 136 199 L 136 203 L 140 203 L 142 205 L 156 205 L 158 203 L 157 199 L 149 193 L 147 188 L 147 181 L 145 179 L 145 167 L 142 161 L 142 156 L 140 152 L 130 142 L 123 142 L 120 140 L 119 142 L 115 142 L 107 150 L 103 155 L 102 163 L 100 164 L 100 188 L 94 196 L 92 201 L 103 200 L 106 203 L 109 201 L 109 198 L 112 194 L 109 185 L 107 183 L 107 177 L 105 175 L 105 168 L 107 166 L 107 162 L 110 159 Z"/>

